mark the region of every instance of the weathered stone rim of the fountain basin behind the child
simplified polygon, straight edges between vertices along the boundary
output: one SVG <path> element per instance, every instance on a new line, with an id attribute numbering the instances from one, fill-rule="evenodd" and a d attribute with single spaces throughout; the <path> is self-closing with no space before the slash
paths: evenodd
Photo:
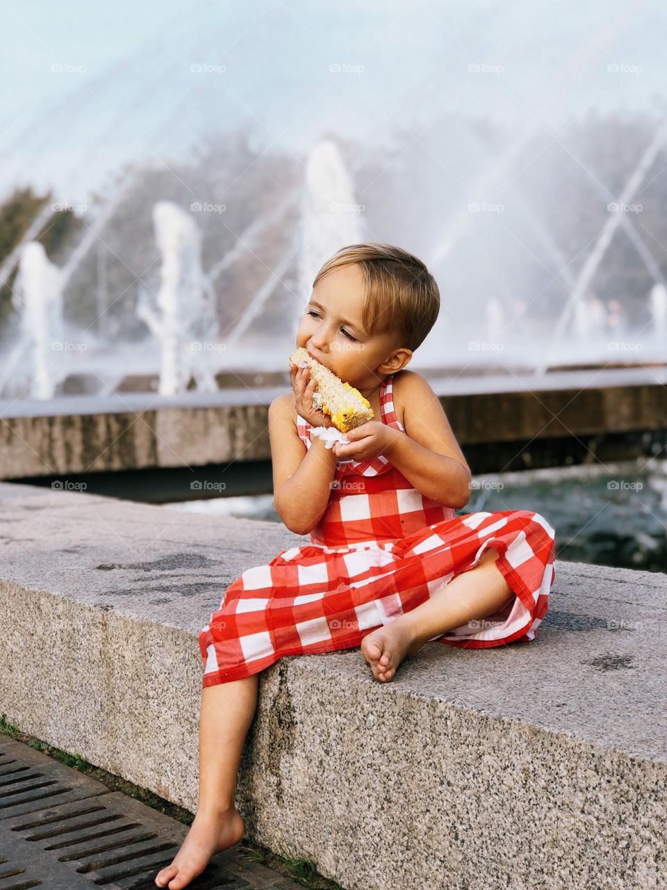
<path id="1" fill-rule="evenodd" d="M 542 441 L 595 440 L 611 430 L 663 433 L 666 381 L 667 368 L 561 371 L 543 379 L 430 378 L 462 448 L 477 457 L 489 444 L 504 444 L 510 459 L 532 442 L 536 449 Z M 0 478 L 266 460 L 269 404 L 288 385 L 0 401 Z M 591 446 L 597 449 L 595 441 Z M 506 464 L 498 457 L 498 466 Z M 477 465 L 484 472 L 495 468 Z"/>

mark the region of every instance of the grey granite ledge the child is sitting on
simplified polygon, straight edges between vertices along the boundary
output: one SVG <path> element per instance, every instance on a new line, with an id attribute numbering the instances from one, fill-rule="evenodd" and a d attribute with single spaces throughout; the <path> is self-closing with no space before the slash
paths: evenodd
<path id="1" fill-rule="evenodd" d="M 0 711 L 194 811 L 197 630 L 299 538 L 0 484 Z M 249 837 L 350 890 L 665 886 L 667 578 L 558 562 L 534 643 L 428 643 L 378 684 L 358 649 L 264 672 Z"/>

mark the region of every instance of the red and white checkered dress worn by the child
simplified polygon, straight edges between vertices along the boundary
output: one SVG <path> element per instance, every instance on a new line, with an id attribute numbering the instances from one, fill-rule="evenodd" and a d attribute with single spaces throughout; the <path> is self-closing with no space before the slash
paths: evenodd
<path id="1" fill-rule="evenodd" d="M 380 391 L 382 423 L 405 433 Z M 309 424 L 297 416 L 310 448 Z M 455 516 L 385 457 L 339 461 L 310 543 L 244 571 L 199 632 L 204 686 L 255 674 L 285 655 L 350 649 L 413 610 L 494 546 L 515 598 L 497 615 L 433 637 L 465 649 L 534 639 L 555 578 L 554 530 L 527 510 Z"/>

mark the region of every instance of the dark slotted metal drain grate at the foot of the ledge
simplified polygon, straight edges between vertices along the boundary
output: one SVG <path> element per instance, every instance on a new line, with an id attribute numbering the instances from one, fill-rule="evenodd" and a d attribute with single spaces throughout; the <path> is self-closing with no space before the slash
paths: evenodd
<path id="1" fill-rule="evenodd" d="M 0 736 L 0 890 L 144 890 L 188 827 Z M 299 890 L 240 854 L 213 856 L 192 890 Z"/>

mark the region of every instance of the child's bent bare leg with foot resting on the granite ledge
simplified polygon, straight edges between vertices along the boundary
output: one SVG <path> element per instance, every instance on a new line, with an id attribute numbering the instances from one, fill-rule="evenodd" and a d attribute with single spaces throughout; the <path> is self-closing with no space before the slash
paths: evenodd
<path id="1" fill-rule="evenodd" d="M 489 547 L 474 569 L 457 575 L 416 609 L 379 627 L 361 641 L 361 651 L 376 680 L 390 680 L 406 656 L 435 636 L 469 621 L 501 611 L 515 594 L 495 565 L 498 551 Z"/>

